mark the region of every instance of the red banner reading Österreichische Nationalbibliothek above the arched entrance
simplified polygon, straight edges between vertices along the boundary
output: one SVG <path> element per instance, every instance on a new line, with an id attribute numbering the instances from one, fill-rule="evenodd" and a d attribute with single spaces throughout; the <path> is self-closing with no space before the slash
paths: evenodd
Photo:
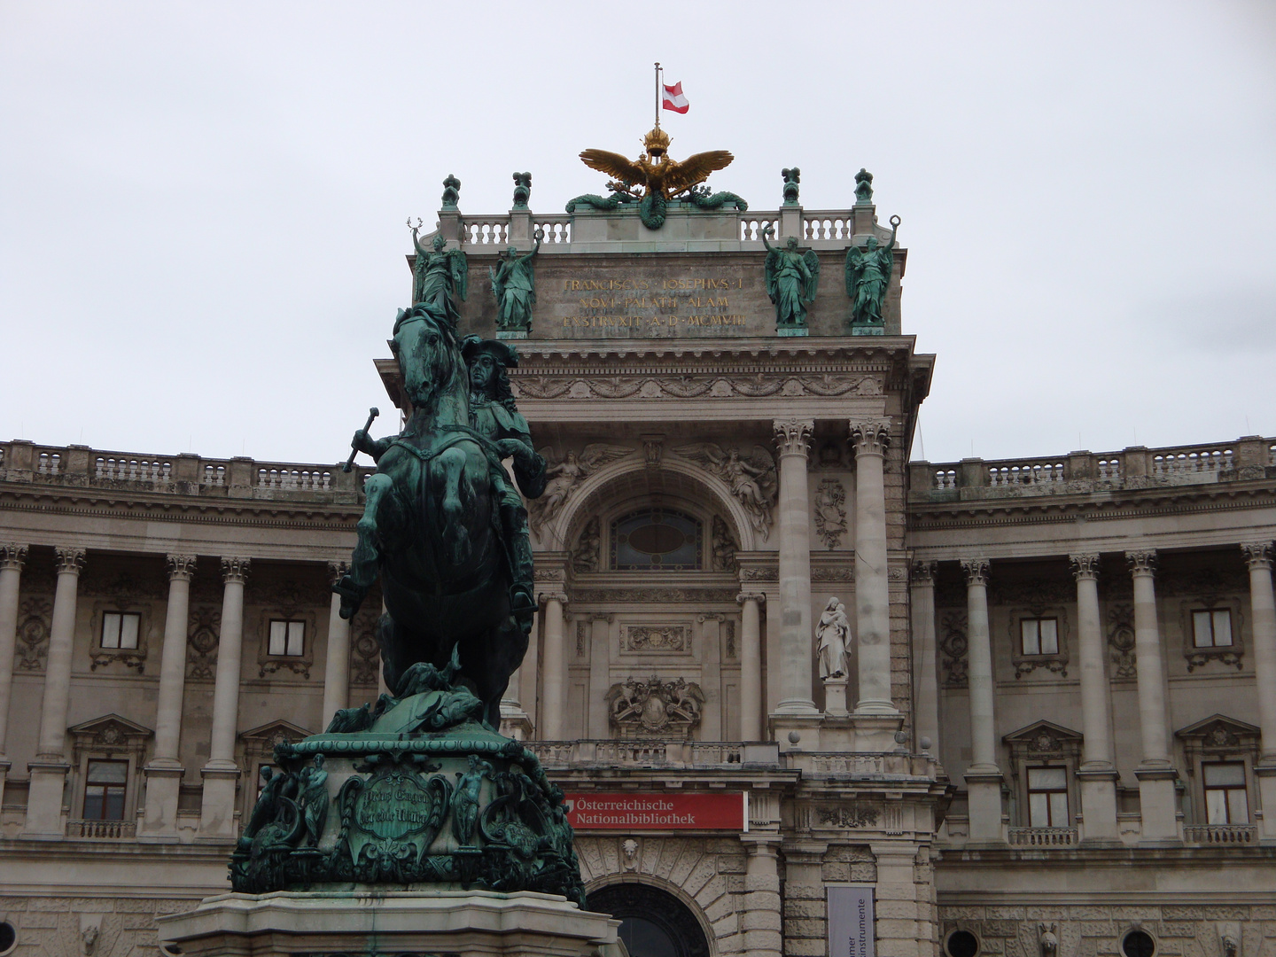
<path id="1" fill-rule="evenodd" d="M 577 831 L 748 831 L 749 792 L 568 794 Z"/>

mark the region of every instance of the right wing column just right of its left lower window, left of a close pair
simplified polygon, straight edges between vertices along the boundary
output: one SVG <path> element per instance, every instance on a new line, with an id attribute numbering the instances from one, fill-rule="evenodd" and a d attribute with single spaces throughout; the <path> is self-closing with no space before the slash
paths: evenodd
<path id="1" fill-rule="evenodd" d="M 1081 732 L 1085 752 L 1077 778 L 1087 841 L 1118 841 L 1116 767 L 1109 731 L 1108 669 L 1099 620 L 1099 555 L 1069 555 L 1077 579 L 1077 657 L 1081 671 Z"/>

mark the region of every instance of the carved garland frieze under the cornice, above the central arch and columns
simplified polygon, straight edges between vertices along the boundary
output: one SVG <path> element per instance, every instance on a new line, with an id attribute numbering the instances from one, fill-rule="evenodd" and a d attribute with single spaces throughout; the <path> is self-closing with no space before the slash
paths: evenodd
<path id="1" fill-rule="evenodd" d="M 516 398 L 767 398 L 771 396 L 880 396 L 882 382 L 872 375 L 606 375 L 606 376 L 512 376 Z"/>

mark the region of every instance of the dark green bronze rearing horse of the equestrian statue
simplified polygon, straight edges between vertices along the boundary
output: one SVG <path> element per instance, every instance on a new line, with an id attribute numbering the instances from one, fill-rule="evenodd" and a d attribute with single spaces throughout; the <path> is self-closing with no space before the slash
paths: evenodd
<path id="1" fill-rule="evenodd" d="M 351 618 L 380 575 L 389 614 L 378 641 L 390 692 L 411 665 L 443 669 L 457 648 L 458 676 L 498 729 L 501 695 L 527 652 L 527 634 L 510 615 L 494 482 L 500 459 L 470 427 L 468 376 L 447 313 L 434 302 L 399 310 L 390 346 L 412 415 L 398 436 L 356 435 L 356 448 L 376 458 L 376 473 L 364 485 L 350 573 L 333 591 L 342 618 Z"/>

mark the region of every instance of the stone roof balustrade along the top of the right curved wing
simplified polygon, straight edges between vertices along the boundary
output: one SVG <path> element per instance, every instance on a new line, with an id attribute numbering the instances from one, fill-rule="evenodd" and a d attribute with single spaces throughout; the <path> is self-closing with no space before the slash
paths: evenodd
<path id="1" fill-rule="evenodd" d="M 1276 439 L 1247 435 L 1211 445 L 1069 452 L 1031 459 L 912 462 L 914 501 L 1086 494 L 1276 477 Z"/>

